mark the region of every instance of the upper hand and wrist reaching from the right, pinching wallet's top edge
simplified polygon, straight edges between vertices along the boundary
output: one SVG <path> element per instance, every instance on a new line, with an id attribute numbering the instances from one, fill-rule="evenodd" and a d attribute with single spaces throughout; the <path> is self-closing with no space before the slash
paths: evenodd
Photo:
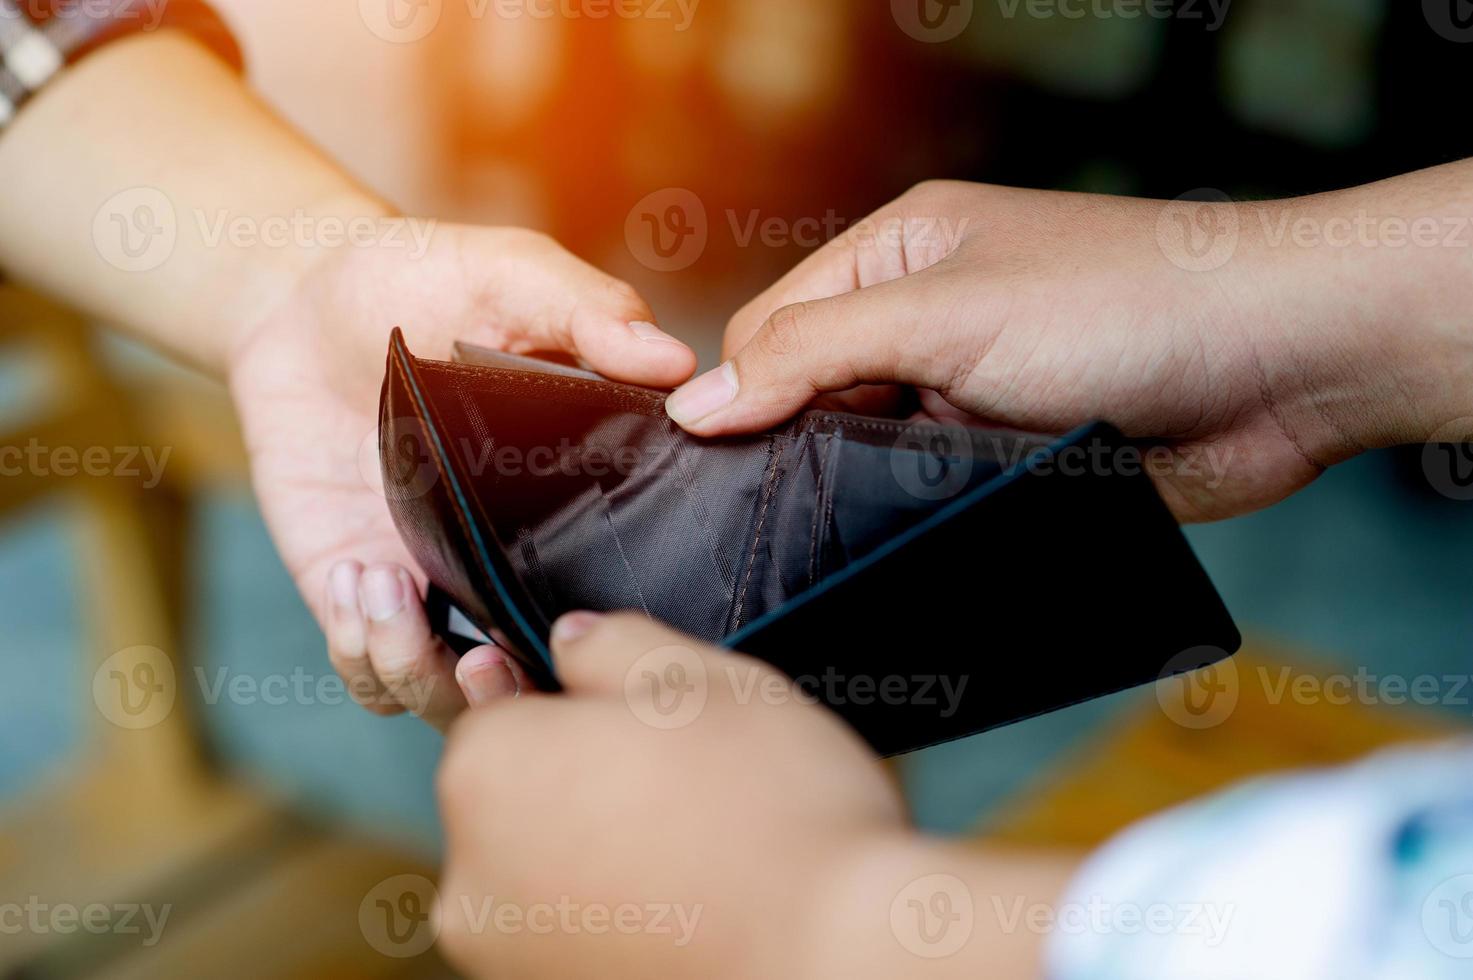
<path id="1" fill-rule="evenodd" d="M 669 411 L 723 435 L 820 392 L 875 411 L 894 389 L 856 386 L 913 385 L 932 411 L 1036 432 L 1105 419 L 1161 441 L 1177 463 L 1153 475 L 1181 519 L 1264 507 L 1364 448 L 1469 414 L 1470 343 L 1451 329 L 1464 321 L 1458 253 L 1302 248 L 1282 233 L 1308 220 L 1329 236 L 1355 209 L 1413 221 L 1448 183 L 1429 174 L 1175 215 L 1165 202 L 922 184 L 738 312 L 731 360 Z M 1174 264 L 1177 217 L 1237 228 L 1231 258 Z M 1449 287 L 1416 286 L 1429 280 Z"/>

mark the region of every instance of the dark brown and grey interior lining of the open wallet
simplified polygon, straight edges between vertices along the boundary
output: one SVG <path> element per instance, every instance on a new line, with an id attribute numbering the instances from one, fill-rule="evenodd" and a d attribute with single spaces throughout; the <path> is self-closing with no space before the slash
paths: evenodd
<path id="1" fill-rule="evenodd" d="M 473 433 L 451 452 L 546 620 L 570 609 L 644 609 L 720 641 L 944 503 L 906 492 L 891 473 L 906 451 L 897 447 L 904 421 L 813 411 L 772 433 L 703 441 L 664 416 L 658 392 L 470 364 L 418 367 L 433 376 L 436 424 Z M 639 466 L 527 475 L 505 472 L 496 457 L 527 461 L 558 441 L 577 460 L 633 448 Z M 968 486 L 1003 469 L 981 441 L 965 455 Z"/>

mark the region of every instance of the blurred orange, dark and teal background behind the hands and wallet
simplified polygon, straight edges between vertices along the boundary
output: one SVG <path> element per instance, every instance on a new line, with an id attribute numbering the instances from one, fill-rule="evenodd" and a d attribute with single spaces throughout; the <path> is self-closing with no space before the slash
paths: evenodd
<path id="1" fill-rule="evenodd" d="M 726 317 L 815 243 L 748 239 L 754 223 L 828 237 L 929 177 L 1243 199 L 1473 155 L 1457 0 L 1149 7 L 1162 16 L 1105 0 L 217 6 L 252 84 L 367 184 L 411 214 L 551 233 L 638 286 L 707 364 Z M 700 248 L 651 253 L 642 215 L 682 192 Z M 177 906 L 152 948 L 0 936 L 0 976 L 443 974 L 432 953 L 384 953 L 359 915 L 382 883 L 433 875 L 439 738 L 315 690 L 331 669 L 221 389 L 15 289 L 0 299 L 7 444 L 171 454 L 158 486 L 0 477 L 0 903 Z M 53 404 L 56 371 L 100 393 Z M 1089 846 L 1236 778 L 1464 729 L 1473 504 L 1439 492 L 1436 460 L 1374 452 L 1189 531 L 1248 637 L 1226 718 L 1175 724 L 1145 690 L 916 753 L 897 771 L 919 822 Z M 181 682 L 165 722 L 122 738 L 138 732 L 99 709 L 94 681 L 147 666 L 128 651 L 155 637 L 183 671 L 256 694 L 202 703 Z M 1028 653 L 981 637 L 980 659 Z M 1373 696 L 1276 699 L 1284 676 L 1364 676 Z M 309 693 L 268 696 L 271 678 Z M 1435 678 L 1438 696 L 1388 694 L 1398 678 Z M 261 945 L 302 917 L 312 936 Z"/>

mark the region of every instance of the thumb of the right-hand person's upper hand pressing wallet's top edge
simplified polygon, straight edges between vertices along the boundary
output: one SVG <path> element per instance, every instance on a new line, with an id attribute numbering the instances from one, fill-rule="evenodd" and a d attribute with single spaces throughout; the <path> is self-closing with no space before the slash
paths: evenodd
<path id="1" fill-rule="evenodd" d="M 823 392 L 937 386 L 949 373 L 937 373 L 944 365 L 929 351 L 934 333 L 921 323 L 927 279 L 921 273 L 778 309 L 731 360 L 676 389 L 666 411 L 695 435 L 717 436 L 767 429 Z"/>

